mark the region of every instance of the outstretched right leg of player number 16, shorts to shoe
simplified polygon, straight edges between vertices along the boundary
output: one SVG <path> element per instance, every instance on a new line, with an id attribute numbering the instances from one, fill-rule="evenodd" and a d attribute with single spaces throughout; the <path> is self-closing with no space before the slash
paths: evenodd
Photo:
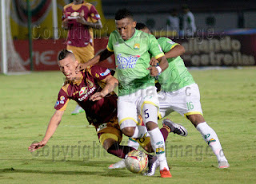
<path id="1" fill-rule="evenodd" d="M 220 168 L 229 167 L 225 155 L 222 151 L 221 143 L 215 131 L 206 123 L 202 116 L 200 103 L 200 92 L 197 84 L 190 84 L 176 92 L 168 93 L 171 97 L 174 111 L 185 115 L 194 127 L 202 134 L 203 139 L 210 146 L 216 155 Z M 225 165 L 225 166 L 223 166 Z"/>

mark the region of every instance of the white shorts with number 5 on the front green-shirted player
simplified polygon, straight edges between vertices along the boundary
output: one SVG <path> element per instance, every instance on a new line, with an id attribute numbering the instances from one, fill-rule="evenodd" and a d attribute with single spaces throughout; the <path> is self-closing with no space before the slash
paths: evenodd
<path id="1" fill-rule="evenodd" d="M 121 130 L 124 127 L 135 127 L 139 122 L 139 114 L 142 115 L 144 121 L 145 113 L 147 115 L 152 113 L 142 111 L 144 104 L 152 104 L 157 107 L 155 110 L 158 111 L 158 93 L 154 86 L 140 89 L 130 95 L 118 96 L 118 122 Z M 156 115 L 149 115 L 150 118 L 146 120 L 158 123 L 157 113 L 152 113 Z M 126 121 L 127 119 L 132 121 Z"/>

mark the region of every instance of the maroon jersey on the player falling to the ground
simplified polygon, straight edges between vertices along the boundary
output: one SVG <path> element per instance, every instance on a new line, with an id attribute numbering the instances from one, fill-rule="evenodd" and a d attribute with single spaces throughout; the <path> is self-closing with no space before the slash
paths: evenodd
<path id="1" fill-rule="evenodd" d="M 75 100 L 86 111 L 89 123 L 98 126 L 107 123 L 117 116 L 117 96 L 107 95 L 101 100 L 91 101 L 90 96 L 102 91 L 101 80 L 110 75 L 110 70 L 101 66 L 93 66 L 82 72 L 82 77 L 76 83 L 66 83 L 58 92 L 58 100 L 54 106 L 56 110 L 65 111 L 68 101 Z"/>

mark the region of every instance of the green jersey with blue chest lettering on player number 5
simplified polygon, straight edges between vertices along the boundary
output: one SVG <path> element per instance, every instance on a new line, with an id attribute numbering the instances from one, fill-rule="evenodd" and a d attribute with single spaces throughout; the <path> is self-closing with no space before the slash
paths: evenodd
<path id="1" fill-rule="evenodd" d="M 159 58 L 164 53 L 153 35 L 135 29 L 134 36 L 124 41 L 115 30 L 110 34 L 107 49 L 114 52 L 115 56 L 118 96 L 154 86 L 154 77 L 147 70 L 150 67 L 150 55 Z"/>

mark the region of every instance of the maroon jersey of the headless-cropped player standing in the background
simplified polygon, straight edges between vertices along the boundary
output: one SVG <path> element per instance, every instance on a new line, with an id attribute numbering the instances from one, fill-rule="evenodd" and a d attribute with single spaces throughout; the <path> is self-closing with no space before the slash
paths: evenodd
<path id="1" fill-rule="evenodd" d="M 74 5 L 72 2 L 64 6 L 62 20 L 74 18 L 78 15 L 82 15 L 86 22 L 97 22 L 100 19 L 98 11 L 92 4 L 83 2 L 82 4 Z M 75 47 L 86 47 L 88 44 L 93 45 L 94 35 L 92 28 L 88 29 L 86 25 L 78 23 L 75 19 L 70 19 L 68 25 L 67 45 Z"/>

